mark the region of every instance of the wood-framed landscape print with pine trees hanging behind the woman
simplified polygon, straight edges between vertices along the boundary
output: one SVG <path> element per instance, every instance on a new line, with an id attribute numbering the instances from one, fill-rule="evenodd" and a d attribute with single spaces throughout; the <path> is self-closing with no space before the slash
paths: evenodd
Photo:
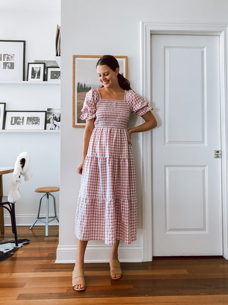
<path id="1" fill-rule="evenodd" d="M 96 63 L 103 55 L 73 55 L 73 127 L 84 127 L 80 119 L 85 95 L 91 88 L 101 88 Z M 119 73 L 127 78 L 127 56 L 114 56 L 119 63 Z"/>

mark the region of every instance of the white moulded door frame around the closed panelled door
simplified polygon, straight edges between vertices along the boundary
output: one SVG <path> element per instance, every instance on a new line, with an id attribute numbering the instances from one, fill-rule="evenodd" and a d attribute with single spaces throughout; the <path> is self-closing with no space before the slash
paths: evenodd
<path id="1" fill-rule="evenodd" d="M 151 101 L 151 34 L 216 35 L 219 36 L 220 60 L 220 118 L 221 118 L 221 163 L 222 163 L 222 221 L 223 257 L 228 260 L 228 169 L 227 169 L 227 118 L 228 118 L 228 24 L 225 23 L 152 23 L 141 20 L 141 69 L 142 96 Z M 142 132 L 142 217 L 143 261 L 152 261 L 152 131 Z M 215 147 L 215 150 L 217 148 Z M 213 153 L 213 152 L 212 152 Z"/>

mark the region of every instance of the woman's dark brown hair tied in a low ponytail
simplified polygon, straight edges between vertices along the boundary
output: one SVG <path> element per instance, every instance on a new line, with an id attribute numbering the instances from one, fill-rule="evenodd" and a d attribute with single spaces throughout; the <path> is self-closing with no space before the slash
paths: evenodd
<path id="1" fill-rule="evenodd" d="M 104 55 L 102 56 L 100 59 L 98 59 L 98 62 L 96 64 L 96 67 L 100 65 L 106 65 L 109 66 L 110 69 L 112 69 L 113 71 L 116 71 L 116 68 L 119 68 L 119 63 L 118 60 L 112 56 L 112 55 Z M 126 79 L 122 74 L 118 73 L 117 74 L 117 79 L 118 79 L 118 83 L 119 86 L 124 89 L 124 90 L 130 90 L 130 81 L 128 79 Z M 103 85 L 101 86 L 101 88 L 104 87 Z"/>

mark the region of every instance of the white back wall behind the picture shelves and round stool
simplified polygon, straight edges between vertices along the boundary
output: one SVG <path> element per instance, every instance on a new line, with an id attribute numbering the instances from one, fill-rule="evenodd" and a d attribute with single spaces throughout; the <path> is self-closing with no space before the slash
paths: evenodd
<path id="1" fill-rule="evenodd" d="M 43 0 L 11 1 L 0 11 L 1 39 L 25 40 L 27 63 L 36 59 L 54 60 L 54 43 L 57 23 L 60 24 L 60 1 L 54 11 L 48 11 Z M 42 10 L 36 9 L 43 7 Z M 53 5 L 53 2 L 52 2 Z M 34 10 L 35 9 L 35 10 Z M 47 110 L 60 108 L 60 85 L 0 84 L 0 102 L 6 110 Z M 34 176 L 22 182 L 21 199 L 16 204 L 17 225 L 31 225 L 37 214 L 40 194 L 34 189 L 42 186 L 59 186 L 60 132 L 4 132 L 0 131 L 0 167 L 13 167 L 16 157 L 27 151 L 32 159 Z M 4 196 L 8 195 L 12 174 L 3 175 Z M 23 180 L 23 179 L 22 179 Z M 54 193 L 59 210 L 59 192 Z M 9 213 L 4 209 L 5 224 L 10 224 Z M 41 214 L 45 213 L 45 202 Z M 50 215 L 54 208 L 50 199 Z M 43 225 L 37 222 L 38 225 Z M 51 224 L 57 224 L 53 221 Z"/>

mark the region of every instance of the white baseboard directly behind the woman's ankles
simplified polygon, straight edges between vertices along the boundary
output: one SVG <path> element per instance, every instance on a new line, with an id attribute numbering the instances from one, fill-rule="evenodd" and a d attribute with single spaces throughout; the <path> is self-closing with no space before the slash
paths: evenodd
<path id="1" fill-rule="evenodd" d="M 108 263 L 110 258 L 110 250 L 111 245 L 87 245 L 84 262 Z M 77 246 L 58 245 L 55 264 L 75 263 L 76 257 Z M 142 245 L 119 245 L 118 258 L 120 262 L 142 262 Z"/>

